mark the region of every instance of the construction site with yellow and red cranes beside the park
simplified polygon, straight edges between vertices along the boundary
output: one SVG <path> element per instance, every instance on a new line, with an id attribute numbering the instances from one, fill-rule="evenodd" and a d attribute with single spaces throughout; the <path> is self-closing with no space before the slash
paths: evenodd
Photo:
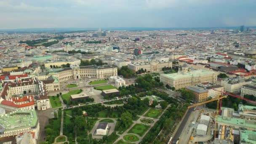
<path id="1" fill-rule="evenodd" d="M 216 91 L 216 90 L 215 90 Z M 190 105 L 189 117 L 176 141 L 172 144 L 256 144 L 256 107 L 239 104 L 238 109 L 221 106 L 222 99 L 233 96 L 248 104 L 255 101 L 221 91 L 217 98 Z M 216 109 L 205 104 L 217 101 Z"/>

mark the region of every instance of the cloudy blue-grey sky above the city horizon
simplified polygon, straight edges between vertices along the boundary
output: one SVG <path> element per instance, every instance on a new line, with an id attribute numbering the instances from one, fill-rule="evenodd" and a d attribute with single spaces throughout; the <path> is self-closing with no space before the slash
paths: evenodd
<path id="1" fill-rule="evenodd" d="M 0 29 L 256 26 L 256 0 L 0 0 Z"/>

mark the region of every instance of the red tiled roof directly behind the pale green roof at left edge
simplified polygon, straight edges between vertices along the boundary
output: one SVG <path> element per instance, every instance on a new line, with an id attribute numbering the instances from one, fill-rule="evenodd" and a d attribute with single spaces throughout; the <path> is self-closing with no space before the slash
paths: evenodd
<path id="1" fill-rule="evenodd" d="M 17 102 L 29 101 L 24 104 L 15 104 Z M 28 107 L 34 105 L 34 97 L 33 96 L 24 96 L 22 98 L 14 97 L 11 99 L 5 99 L 1 102 L 3 105 L 11 106 L 11 107 Z"/>

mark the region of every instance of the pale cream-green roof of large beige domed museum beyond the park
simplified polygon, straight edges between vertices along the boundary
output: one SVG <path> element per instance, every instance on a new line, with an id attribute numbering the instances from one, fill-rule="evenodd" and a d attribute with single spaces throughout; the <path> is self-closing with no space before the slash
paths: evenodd
<path id="1" fill-rule="evenodd" d="M 177 73 L 172 73 L 172 74 L 163 74 L 161 76 L 167 77 L 172 80 L 179 80 L 183 78 L 192 78 L 192 77 L 199 77 L 203 75 L 211 75 L 211 74 L 216 74 L 216 72 L 211 72 L 203 69 L 197 69 L 197 70 L 192 70 L 190 72 L 177 72 Z"/>

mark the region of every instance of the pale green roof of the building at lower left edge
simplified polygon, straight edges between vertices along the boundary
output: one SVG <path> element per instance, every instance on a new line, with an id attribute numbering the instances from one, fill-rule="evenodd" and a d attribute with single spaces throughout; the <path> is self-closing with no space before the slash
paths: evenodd
<path id="1" fill-rule="evenodd" d="M 0 131 L 13 131 L 36 127 L 38 121 L 35 110 L 19 110 L 0 117 Z"/>

